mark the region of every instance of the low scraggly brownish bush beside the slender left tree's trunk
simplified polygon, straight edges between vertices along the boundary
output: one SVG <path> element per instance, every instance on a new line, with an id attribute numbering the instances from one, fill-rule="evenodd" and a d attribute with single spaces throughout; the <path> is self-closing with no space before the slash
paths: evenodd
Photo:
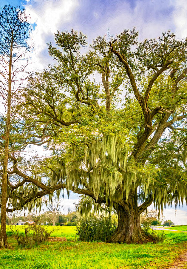
<path id="1" fill-rule="evenodd" d="M 25 234 L 24 233 L 18 233 L 16 225 L 15 230 L 13 230 L 13 227 L 10 226 L 11 231 L 13 232 L 16 241 L 18 243 L 18 246 L 21 247 L 31 247 L 33 245 L 38 245 L 41 243 L 44 243 L 51 233 L 53 233 L 54 229 L 51 232 L 48 232 L 46 228 L 42 227 L 41 225 L 37 224 L 30 224 L 25 228 Z"/>

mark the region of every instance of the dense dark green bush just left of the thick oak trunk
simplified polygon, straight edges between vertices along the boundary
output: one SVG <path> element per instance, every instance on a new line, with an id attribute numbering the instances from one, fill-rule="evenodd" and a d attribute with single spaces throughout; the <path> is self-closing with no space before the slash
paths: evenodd
<path id="1" fill-rule="evenodd" d="M 106 242 L 116 230 L 117 224 L 111 217 L 100 218 L 91 215 L 81 218 L 77 224 L 77 235 L 81 241 L 103 241 Z"/>

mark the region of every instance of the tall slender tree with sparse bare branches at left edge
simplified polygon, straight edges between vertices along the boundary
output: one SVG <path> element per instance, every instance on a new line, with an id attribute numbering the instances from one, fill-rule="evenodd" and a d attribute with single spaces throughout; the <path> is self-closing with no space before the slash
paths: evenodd
<path id="1" fill-rule="evenodd" d="M 1 232 L 0 247 L 7 247 L 6 204 L 7 204 L 7 169 L 10 152 L 13 152 L 18 138 L 19 119 L 16 117 L 16 91 L 30 76 L 27 69 L 27 53 L 31 46 L 28 16 L 19 7 L 7 5 L 0 11 L 0 178 L 1 178 Z M 11 133 L 11 135 L 10 135 Z M 16 150 L 16 149 L 15 149 Z"/>

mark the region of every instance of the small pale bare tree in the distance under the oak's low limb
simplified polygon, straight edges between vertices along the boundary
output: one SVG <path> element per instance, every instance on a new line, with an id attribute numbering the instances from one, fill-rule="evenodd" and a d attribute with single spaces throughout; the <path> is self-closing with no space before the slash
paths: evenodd
<path id="1" fill-rule="evenodd" d="M 60 210 L 63 208 L 64 205 L 60 205 L 61 201 L 52 200 L 49 207 L 47 208 L 48 211 L 46 212 L 46 215 L 52 221 L 52 226 L 56 225 L 56 218 L 61 214 Z"/>

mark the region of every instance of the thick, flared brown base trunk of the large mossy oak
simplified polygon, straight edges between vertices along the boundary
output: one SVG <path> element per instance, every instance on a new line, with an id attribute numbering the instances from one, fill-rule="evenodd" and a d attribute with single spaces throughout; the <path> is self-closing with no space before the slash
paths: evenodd
<path id="1" fill-rule="evenodd" d="M 115 210 L 118 214 L 118 227 L 108 242 L 111 243 L 143 243 L 148 239 L 140 226 L 140 214 L 138 213 L 137 206 L 132 204 L 115 204 Z"/>

